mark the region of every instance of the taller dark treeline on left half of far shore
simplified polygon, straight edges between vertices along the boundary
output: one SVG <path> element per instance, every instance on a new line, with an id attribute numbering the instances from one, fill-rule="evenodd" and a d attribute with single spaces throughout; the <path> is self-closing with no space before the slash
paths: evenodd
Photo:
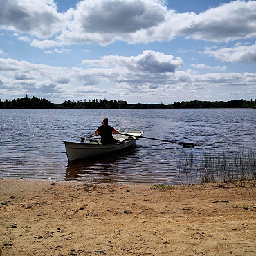
<path id="1" fill-rule="evenodd" d="M 39 99 L 35 96 L 28 98 L 17 98 L 14 100 L 0 99 L 0 109 L 127 109 L 127 102 L 124 100 L 78 100 L 77 102 L 65 100 L 63 103 L 51 103 L 44 98 Z"/>

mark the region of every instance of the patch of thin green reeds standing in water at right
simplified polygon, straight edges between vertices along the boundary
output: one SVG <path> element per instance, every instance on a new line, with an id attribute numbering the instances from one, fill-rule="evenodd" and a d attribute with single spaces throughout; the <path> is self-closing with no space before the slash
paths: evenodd
<path id="1" fill-rule="evenodd" d="M 255 159 L 255 149 L 248 152 L 190 152 L 179 159 L 179 174 L 183 183 L 255 180 Z"/>

